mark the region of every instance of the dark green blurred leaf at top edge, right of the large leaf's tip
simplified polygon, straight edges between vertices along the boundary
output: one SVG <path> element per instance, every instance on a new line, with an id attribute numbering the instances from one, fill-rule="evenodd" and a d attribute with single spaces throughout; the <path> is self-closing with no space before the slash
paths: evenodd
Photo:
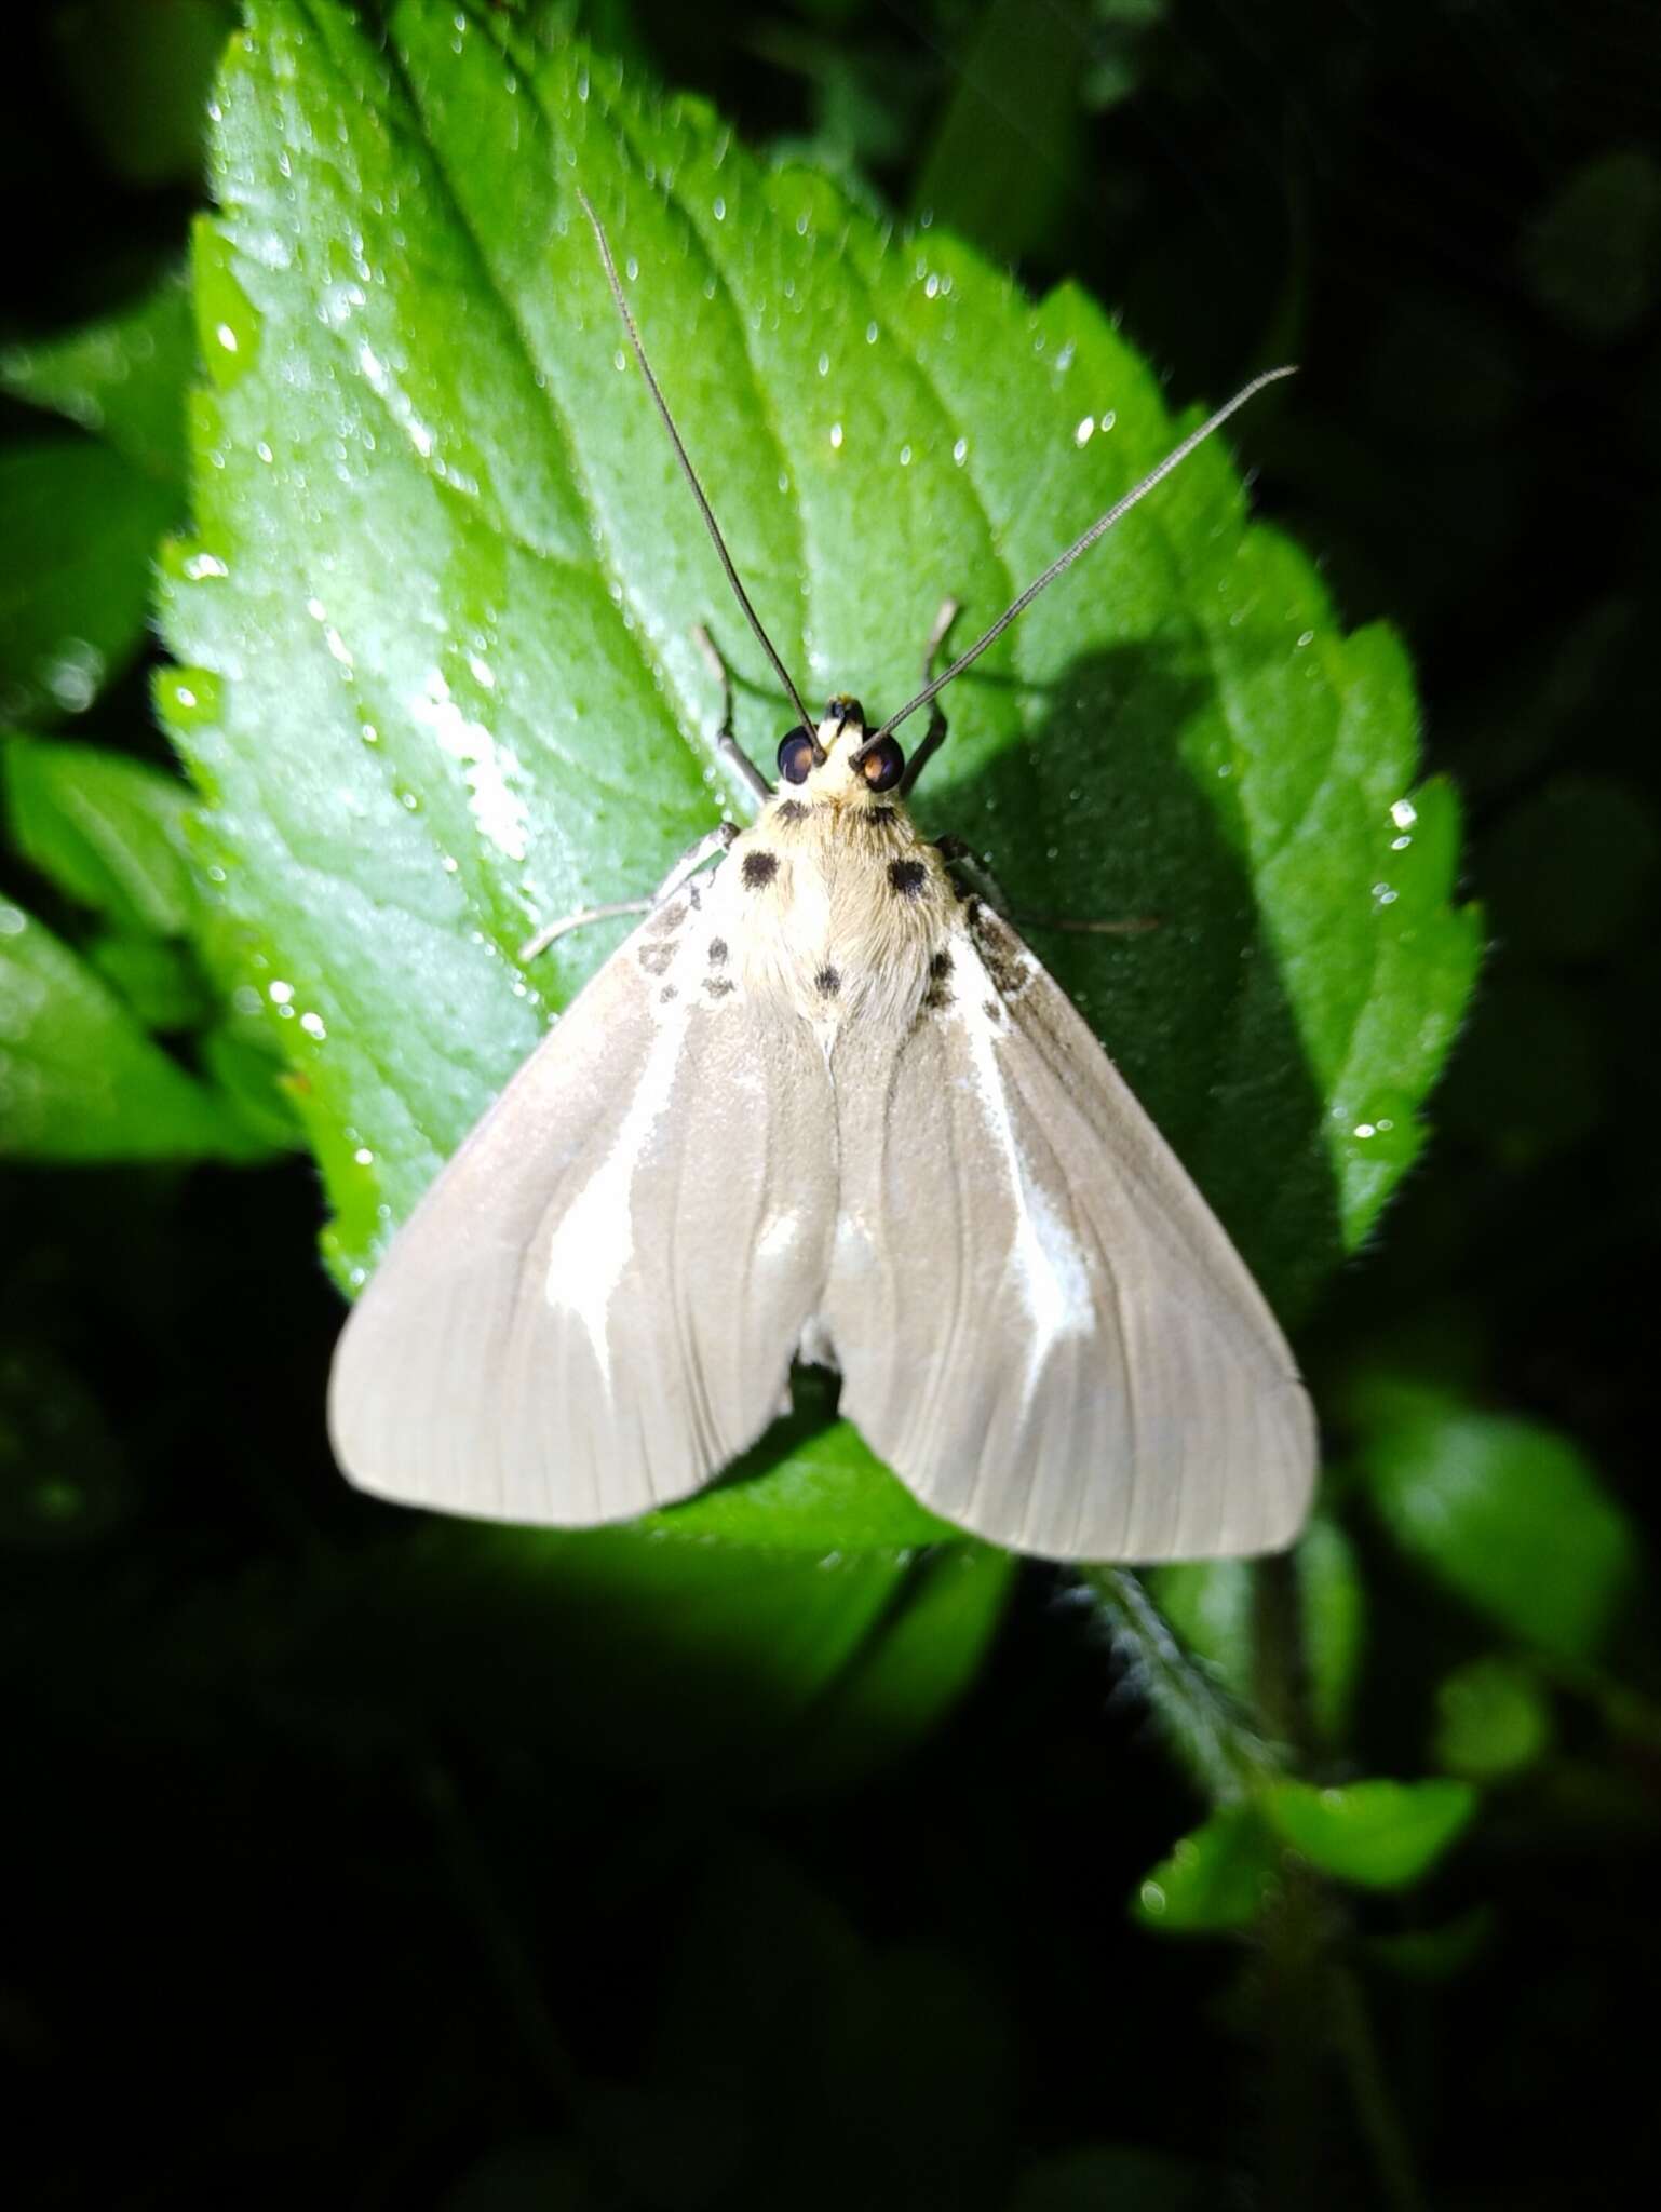
<path id="1" fill-rule="evenodd" d="M 911 215 L 1017 261 L 1077 175 L 1088 46 L 1079 0 L 986 0 L 911 188 Z"/>

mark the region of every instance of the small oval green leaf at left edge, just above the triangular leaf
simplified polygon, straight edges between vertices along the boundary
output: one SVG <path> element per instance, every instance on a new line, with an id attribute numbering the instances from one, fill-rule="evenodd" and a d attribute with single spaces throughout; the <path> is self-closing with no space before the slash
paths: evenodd
<path id="1" fill-rule="evenodd" d="M 66 898 L 126 929 L 177 938 L 197 911 L 177 776 L 100 745 L 0 743 L 11 841 Z"/>

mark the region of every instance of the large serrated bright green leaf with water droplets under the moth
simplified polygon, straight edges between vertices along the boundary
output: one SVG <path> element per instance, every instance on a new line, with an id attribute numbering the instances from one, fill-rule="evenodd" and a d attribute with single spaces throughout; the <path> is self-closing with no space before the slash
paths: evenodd
<path id="1" fill-rule="evenodd" d="M 739 803 L 692 624 L 737 664 L 748 750 L 785 726 L 575 175 L 809 690 L 905 697 L 944 593 L 991 619 L 1177 436 L 1082 294 L 1033 307 L 701 106 L 509 35 L 405 4 L 383 44 L 259 0 L 197 252 L 212 392 L 161 710 L 250 980 L 310 1015 L 285 1044 L 347 1281 L 617 938 L 533 973 L 513 947 Z M 1208 447 L 955 688 L 938 770 L 924 827 L 982 843 L 1017 905 L 1163 916 L 1044 949 L 1303 1305 L 1413 1157 L 1475 964 L 1453 799 L 1409 799 L 1400 646 L 1340 633 Z"/>

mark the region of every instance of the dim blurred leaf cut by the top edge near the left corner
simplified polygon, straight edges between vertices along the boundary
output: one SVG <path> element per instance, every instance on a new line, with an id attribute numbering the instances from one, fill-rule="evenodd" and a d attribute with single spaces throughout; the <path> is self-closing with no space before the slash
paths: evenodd
<path id="1" fill-rule="evenodd" d="M 75 119 L 117 177 L 195 184 L 230 0 L 71 0 L 53 11 L 58 73 Z"/>

